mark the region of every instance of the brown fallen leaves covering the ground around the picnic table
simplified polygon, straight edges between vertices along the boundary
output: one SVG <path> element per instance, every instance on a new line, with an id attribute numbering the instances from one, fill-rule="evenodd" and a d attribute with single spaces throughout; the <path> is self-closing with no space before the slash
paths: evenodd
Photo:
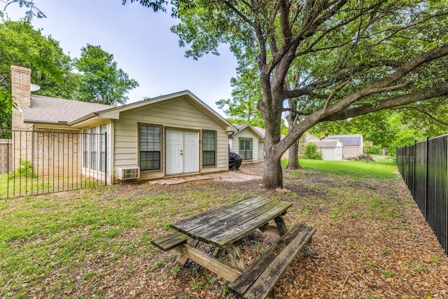
<path id="1" fill-rule="evenodd" d="M 240 171 L 260 174 L 262 165 L 243 165 Z M 288 223 L 316 228 L 311 244 L 274 287 L 276 298 L 448 298 L 448 257 L 401 179 L 356 181 L 302 171 L 286 176 L 284 187 L 288 192 L 262 190 L 260 181 L 124 184 L 105 188 L 104 200 L 147 194 L 179 197 L 179 207 L 161 207 L 161 212 L 170 209 L 176 221 L 183 216 L 183 205 L 195 204 L 197 192 L 208 193 L 214 200 L 197 212 L 239 197 L 276 197 L 293 202 L 286 214 Z M 79 195 L 65 195 L 66 200 L 75 196 Z M 132 244 L 144 235 L 158 236 L 167 232 L 167 224 L 148 224 L 125 237 Z M 275 240 L 263 232 L 244 237 L 246 263 L 256 263 Z M 67 279 L 73 281 L 73 288 L 61 290 L 60 297 L 235 298 L 228 291 L 228 281 L 216 274 L 193 262 L 176 266 L 174 251 L 134 251 L 129 255 L 125 251 L 119 258 L 92 252 L 79 261 L 77 270 L 60 267 L 50 272 L 28 296 L 48 297 L 47 287 Z"/>

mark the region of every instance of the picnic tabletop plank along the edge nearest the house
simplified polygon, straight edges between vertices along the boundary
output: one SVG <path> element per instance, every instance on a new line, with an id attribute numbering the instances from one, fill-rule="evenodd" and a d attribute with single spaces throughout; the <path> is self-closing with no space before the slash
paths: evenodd
<path id="1" fill-rule="evenodd" d="M 204 223 L 208 223 L 210 221 L 213 221 L 216 218 L 221 218 L 221 217 L 227 215 L 229 209 L 231 209 L 232 207 L 248 206 L 255 202 L 259 202 L 260 200 L 265 200 L 266 198 L 267 197 L 250 197 L 250 198 L 244 198 L 243 200 L 237 200 L 237 201 L 232 202 L 231 204 L 227 204 L 223 207 L 211 209 L 209 211 L 205 211 L 203 213 L 197 214 L 190 218 L 185 218 L 180 221 L 176 221 L 175 223 L 172 223 L 171 226 L 172 226 L 172 228 L 176 228 L 177 230 L 186 230 L 185 228 L 188 228 L 187 230 L 191 230 L 197 226 L 203 225 Z"/>

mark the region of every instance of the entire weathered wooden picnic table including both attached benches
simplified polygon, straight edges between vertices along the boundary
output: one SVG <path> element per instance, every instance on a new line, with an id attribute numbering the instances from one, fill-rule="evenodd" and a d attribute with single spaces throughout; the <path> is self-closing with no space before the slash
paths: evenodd
<path id="1" fill-rule="evenodd" d="M 172 223 L 176 232 L 151 243 L 163 251 L 178 251 L 177 261 L 182 265 L 190 259 L 230 281 L 230 291 L 241 298 L 266 298 L 273 295 L 274 284 L 315 232 L 304 225 L 288 230 L 283 215 L 291 205 L 267 197 L 246 198 Z M 269 224 L 272 220 L 275 225 Z M 280 239 L 246 267 L 238 242 L 257 229 Z M 214 253 L 198 249 L 200 241 L 215 246 Z M 216 258 L 221 250 L 227 251 L 230 265 Z"/>

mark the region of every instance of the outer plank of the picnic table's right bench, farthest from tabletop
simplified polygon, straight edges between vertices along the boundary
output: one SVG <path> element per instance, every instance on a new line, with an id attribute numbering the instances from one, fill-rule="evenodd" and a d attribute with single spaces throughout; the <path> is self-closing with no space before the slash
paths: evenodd
<path id="1" fill-rule="evenodd" d="M 277 256 L 272 263 L 266 268 L 255 283 L 244 294 L 246 299 L 265 298 L 266 295 L 272 291 L 274 284 L 279 279 L 283 271 L 288 267 L 291 261 L 295 258 L 300 249 L 309 242 L 309 239 L 316 230 L 314 228 L 304 228 L 290 244 L 286 246 L 279 256 Z"/>

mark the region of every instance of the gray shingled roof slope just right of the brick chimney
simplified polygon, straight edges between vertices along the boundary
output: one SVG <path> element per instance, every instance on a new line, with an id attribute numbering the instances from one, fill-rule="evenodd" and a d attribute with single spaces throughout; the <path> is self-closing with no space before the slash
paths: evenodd
<path id="1" fill-rule="evenodd" d="M 21 107 L 23 120 L 27 123 L 59 124 L 66 124 L 91 113 L 111 108 L 114 106 L 41 95 L 31 95 L 31 106 Z"/>

